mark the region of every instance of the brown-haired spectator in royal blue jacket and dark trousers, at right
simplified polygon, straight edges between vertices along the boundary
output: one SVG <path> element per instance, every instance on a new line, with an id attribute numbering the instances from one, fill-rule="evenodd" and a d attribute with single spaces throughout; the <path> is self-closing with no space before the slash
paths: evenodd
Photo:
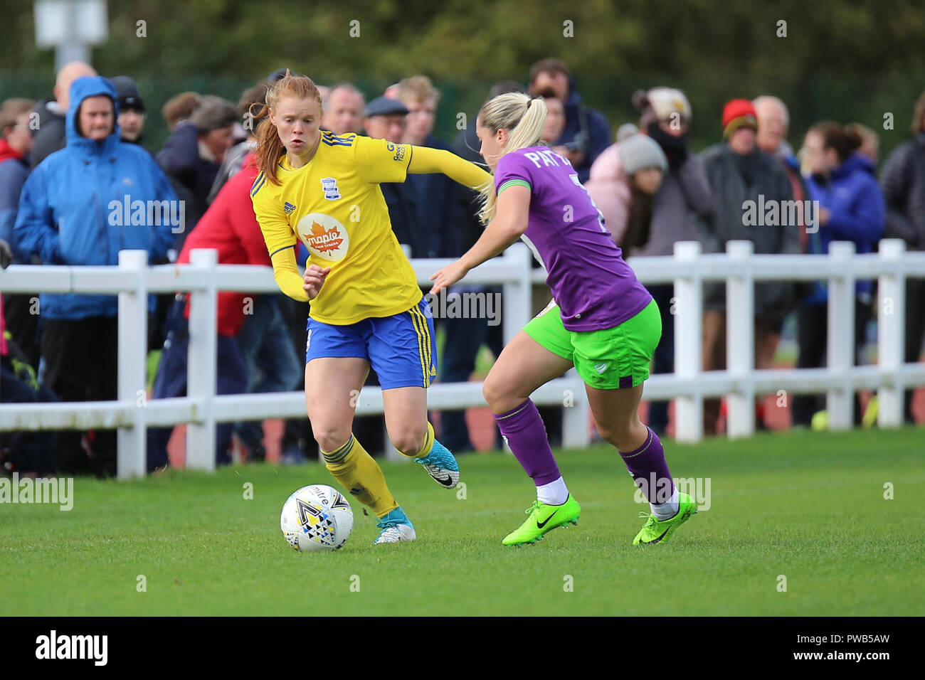
<path id="1" fill-rule="evenodd" d="M 829 252 L 832 241 L 854 241 L 857 253 L 872 253 L 883 235 L 886 205 L 868 158 L 856 153 L 861 145 L 857 131 L 825 121 L 809 129 L 804 142 L 809 176 L 809 198 L 818 201 L 817 229 L 808 231 L 808 253 Z M 855 363 L 864 344 L 871 316 L 873 281 L 858 280 L 855 287 L 855 328 L 828 328 L 827 282 L 813 281 L 808 294 L 797 304 L 797 368 L 818 368 L 826 350 L 828 331 L 854 334 Z M 818 397 L 794 399 L 793 423 L 808 426 L 818 410 Z M 855 395 L 854 420 L 860 423 L 860 403 Z"/>

